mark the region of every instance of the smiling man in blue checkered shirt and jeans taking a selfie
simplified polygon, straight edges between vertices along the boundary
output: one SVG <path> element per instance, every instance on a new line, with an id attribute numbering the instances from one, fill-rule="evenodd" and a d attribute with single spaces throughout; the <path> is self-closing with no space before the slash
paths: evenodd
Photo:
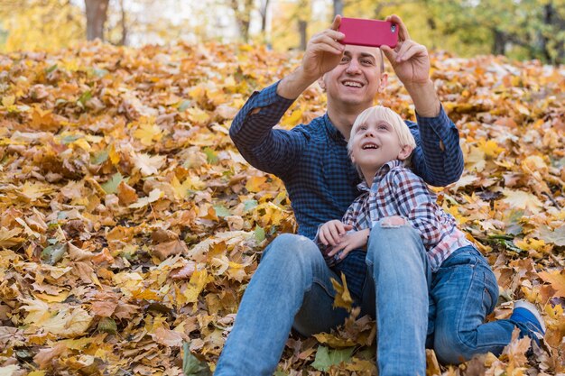
<path id="1" fill-rule="evenodd" d="M 422 339 L 420 334 L 427 328 L 433 344 L 435 310 L 428 302 L 421 255 L 402 252 L 421 248 L 419 237 L 409 234 L 407 226 L 375 227 L 369 242 L 375 247 L 372 252 L 349 252 L 331 269 L 312 239 L 319 225 L 341 218 L 359 193 L 360 179 L 347 156 L 347 139 L 357 115 L 373 105 L 386 86 L 381 50 L 415 105 L 418 124 L 406 122 L 417 144 L 412 165 L 429 184 L 444 186 L 459 178 L 463 157 L 458 130 L 436 96 L 427 50 L 410 39 L 398 16 L 387 18 L 399 26 L 394 50 L 342 45 L 340 20 L 336 16 L 328 30 L 310 39 L 301 67 L 254 93 L 230 129 L 245 160 L 284 182 L 299 234 L 279 235 L 265 249 L 245 290 L 217 375 L 271 375 L 292 327 L 312 335 L 342 324 L 347 311 L 332 307 L 335 290 L 330 281 L 339 280 L 341 272 L 361 313 L 376 318 L 379 374 L 425 374 L 425 335 Z M 273 130 L 292 102 L 317 80 L 328 96 L 327 114 L 291 131 Z M 376 271 L 375 265 L 385 272 Z M 397 290 L 403 294 L 387 294 Z M 496 296 L 497 286 L 486 291 L 485 309 Z M 417 314 L 412 314 L 412 307 Z M 454 357 L 446 354 L 445 359 Z"/>

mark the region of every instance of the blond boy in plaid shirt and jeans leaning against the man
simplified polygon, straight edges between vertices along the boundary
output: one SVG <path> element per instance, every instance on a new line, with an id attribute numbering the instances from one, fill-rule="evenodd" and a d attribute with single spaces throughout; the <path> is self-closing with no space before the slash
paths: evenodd
<path id="1" fill-rule="evenodd" d="M 338 263 L 348 252 L 371 243 L 369 235 L 374 227 L 412 226 L 421 238 L 421 252 L 425 254 L 422 272 L 428 282 L 429 307 L 433 311 L 433 315 L 430 314 L 435 316 L 428 324 L 431 330 L 428 330 L 426 344 L 436 349 L 440 360 L 458 362 L 468 360 L 475 353 L 500 353 L 514 326 L 520 328 L 522 335 L 529 335 L 537 342 L 545 333 L 545 327 L 530 303 L 515 303 L 514 313 L 508 320 L 483 324 L 498 298 L 495 274 L 458 229 L 455 219 L 437 205 L 435 195 L 425 182 L 405 167 L 414 147 L 412 133 L 394 111 L 374 106 L 357 117 L 347 151 L 364 178 L 358 186 L 363 193 L 349 206 L 342 221 L 332 220 L 320 226 L 317 240 L 327 247 L 326 260 L 330 265 Z M 367 264 L 369 258 L 367 255 Z M 369 272 L 371 266 L 369 264 Z M 378 274 L 386 272 L 386 265 L 372 272 L 378 301 Z M 381 292 L 383 296 L 385 293 L 390 291 Z M 476 309 L 476 312 L 461 315 L 461 307 Z M 381 319 L 378 314 L 376 312 L 377 322 Z M 394 320 L 394 317 L 386 319 Z M 403 330 L 404 325 L 399 322 L 399 330 Z M 407 335 L 425 333 L 416 328 Z M 381 335 L 379 333 L 379 339 Z M 496 338 L 500 339 L 499 344 Z"/>

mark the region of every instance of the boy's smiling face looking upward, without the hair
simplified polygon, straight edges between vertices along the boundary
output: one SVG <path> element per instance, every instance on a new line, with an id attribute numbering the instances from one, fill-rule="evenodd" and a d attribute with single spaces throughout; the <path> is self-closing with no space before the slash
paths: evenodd
<path id="1" fill-rule="evenodd" d="M 351 159 L 364 171 L 376 172 L 390 160 L 405 160 L 412 147 L 401 145 L 398 134 L 391 124 L 384 120 L 367 119 L 352 134 Z"/>

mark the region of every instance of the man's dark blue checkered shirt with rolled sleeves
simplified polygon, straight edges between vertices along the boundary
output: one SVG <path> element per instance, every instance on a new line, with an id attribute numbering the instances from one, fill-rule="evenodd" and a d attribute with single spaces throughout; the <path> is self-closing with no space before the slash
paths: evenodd
<path id="1" fill-rule="evenodd" d="M 278 82 L 255 92 L 236 115 L 229 134 L 245 160 L 282 179 L 298 233 L 314 239 L 318 225 L 345 214 L 359 195 L 361 179 L 347 157 L 346 140 L 327 114 L 290 131 L 273 129 L 294 102 L 276 94 L 277 86 Z M 457 181 L 463 153 L 455 124 L 443 108 L 437 117 L 417 120 L 418 124 L 406 122 L 417 144 L 412 153 L 414 172 L 432 186 Z M 350 252 L 336 267 L 346 274 L 354 295 L 366 274 L 365 255 L 357 253 Z"/>

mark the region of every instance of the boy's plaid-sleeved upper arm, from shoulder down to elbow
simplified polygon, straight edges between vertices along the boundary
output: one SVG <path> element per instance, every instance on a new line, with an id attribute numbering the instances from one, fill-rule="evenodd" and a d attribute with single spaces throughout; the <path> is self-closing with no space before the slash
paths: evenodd
<path id="1" fill-rule="evenodd" d="M 441 240 L 441 210 L 426 183 L 409 170 L 394 170 L 389 184 L 400 214 L 421 236 L 426 247 Z"/>

